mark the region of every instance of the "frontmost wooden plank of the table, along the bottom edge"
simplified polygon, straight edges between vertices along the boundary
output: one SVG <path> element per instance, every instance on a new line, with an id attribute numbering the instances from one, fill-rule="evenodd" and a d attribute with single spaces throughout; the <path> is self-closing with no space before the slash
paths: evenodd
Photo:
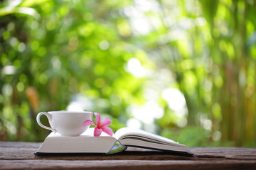
<path id="1" fill-rule="evenodd" d="M 0 169 L 255 169 L 255 161 L 0 160 Z"/>

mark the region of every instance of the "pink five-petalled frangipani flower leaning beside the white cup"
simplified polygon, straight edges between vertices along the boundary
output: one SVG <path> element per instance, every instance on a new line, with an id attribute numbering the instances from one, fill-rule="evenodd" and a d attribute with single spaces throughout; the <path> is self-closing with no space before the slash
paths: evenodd
<path id="1" fill-rule="evenodd" d="M 94 113 L 95 117 L 96 117 L 96 124 L 92 121 L 92 120 L 85 120 L 84 126 L 85 125 L 95 125 L 96 128 L 94 130 L 93 135 L 94 136 L 100 136 L 100 134 L 103 132 L 107 133 L 107 135 L 112 136 L 113 135 L 113 130 L 109 127 L 107 127 L 108 125 L 110 125 L 112 122 L 109 118 L 105 118 L 105 120 L 102 120 L 102 122 L 100 122 L 100 114 L 99 113 Z"/>

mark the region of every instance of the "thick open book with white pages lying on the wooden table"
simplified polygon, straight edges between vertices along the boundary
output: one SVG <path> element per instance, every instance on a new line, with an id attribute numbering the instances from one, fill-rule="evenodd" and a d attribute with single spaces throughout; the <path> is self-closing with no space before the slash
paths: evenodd
<path id="1" fill-rule="evenodd" d="M 100 137 L 94 137 L 93 130 L 94 128 L 89 128 L 78 137 L 60 136 L 51 132 L 35 154 L 114 154 L 124 151 L 127 147 L 192 154 L 185 145 L 144 130 L 121 128 L 112 137 L 104 132 Z"/>

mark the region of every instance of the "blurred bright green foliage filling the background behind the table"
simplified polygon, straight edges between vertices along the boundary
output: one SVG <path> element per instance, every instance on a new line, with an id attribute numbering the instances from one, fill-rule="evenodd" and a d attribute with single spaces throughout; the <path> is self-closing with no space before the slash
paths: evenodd
<path id="1" fill-rule="evenodd" d="M 188 146 L 256 146 L 256 2 L 0 2 L 0 140 L 81 108 Z M 42 122 L 47 125 L 46 118 Z"/>

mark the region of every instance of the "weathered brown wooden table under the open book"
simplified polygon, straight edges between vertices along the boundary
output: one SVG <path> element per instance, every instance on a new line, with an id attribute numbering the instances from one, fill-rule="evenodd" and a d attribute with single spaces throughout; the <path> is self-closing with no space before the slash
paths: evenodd
<path id="1" fill-rule="evenodd" d="M 38 156 L 40 145 L 0 142 L 0 169 L 256 169 L 256 148 L 192 147 L 193 157 L 133 148 L 108 156 Z"/>

